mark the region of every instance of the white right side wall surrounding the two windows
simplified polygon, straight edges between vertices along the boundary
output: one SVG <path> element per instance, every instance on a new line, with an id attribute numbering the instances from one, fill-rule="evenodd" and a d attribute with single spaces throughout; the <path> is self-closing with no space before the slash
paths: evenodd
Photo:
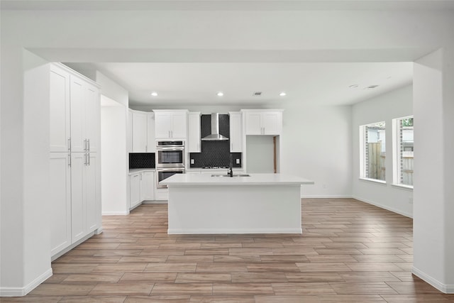
<path id="1" fill-rule="evenodd" d="M 395 211 L 405 216 L 413 215 L 413 204 L 409 199 L 413 192 L 392 186 L 392 119 L 413 114 L 412 86 L 396 89 L 379 97 L 353 105 L 353 197 L 363 202 L 375 204 L 384 209 Z M 386 182 L 380 184 L 360 180 L 360 131 L 361 125 L 381 122 L 386 123 Z M 415 123 L 418 121 L 415 119 Z M 416 160 L 418 161 L 418 160 Z"/>

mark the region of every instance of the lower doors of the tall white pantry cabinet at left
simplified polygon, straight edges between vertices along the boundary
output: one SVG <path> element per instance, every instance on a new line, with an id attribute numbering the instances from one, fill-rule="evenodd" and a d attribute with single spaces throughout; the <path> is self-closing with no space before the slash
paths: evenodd
<path id="1" fill-rule="evenodd" d="M 101 226 L 96 153 L 50 154 L 50 252 L 60 253 Z"/>

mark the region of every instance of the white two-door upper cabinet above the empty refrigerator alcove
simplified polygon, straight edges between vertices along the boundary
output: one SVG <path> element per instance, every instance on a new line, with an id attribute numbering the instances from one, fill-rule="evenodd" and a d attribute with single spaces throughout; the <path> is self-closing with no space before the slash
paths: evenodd
<path id="1" fill-rule="evenodd" d="M 246 135 L 280 135 L 282 109 L 243 109 Z"/>

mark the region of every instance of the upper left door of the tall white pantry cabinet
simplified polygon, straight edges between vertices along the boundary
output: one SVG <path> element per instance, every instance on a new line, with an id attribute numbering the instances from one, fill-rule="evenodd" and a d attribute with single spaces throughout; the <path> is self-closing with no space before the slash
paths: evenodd
<path id="1" fill-rule="evenodd" d="M 50 65 L 50 151 L 67 152 L 70 138 L 70 74 Z"/>

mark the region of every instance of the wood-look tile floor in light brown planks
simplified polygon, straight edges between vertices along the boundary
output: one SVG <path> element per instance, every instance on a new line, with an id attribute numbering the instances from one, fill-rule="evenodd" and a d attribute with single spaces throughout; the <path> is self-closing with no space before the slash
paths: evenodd
<path id="1" fill-rule="evenodd" d="M 104 216 L 50 279 L 0 301 L 454 302 L 411 275 L 411 219 L 354 199 L 301 203 L 302 235 L 170 236 L 167 204 Z"/>

